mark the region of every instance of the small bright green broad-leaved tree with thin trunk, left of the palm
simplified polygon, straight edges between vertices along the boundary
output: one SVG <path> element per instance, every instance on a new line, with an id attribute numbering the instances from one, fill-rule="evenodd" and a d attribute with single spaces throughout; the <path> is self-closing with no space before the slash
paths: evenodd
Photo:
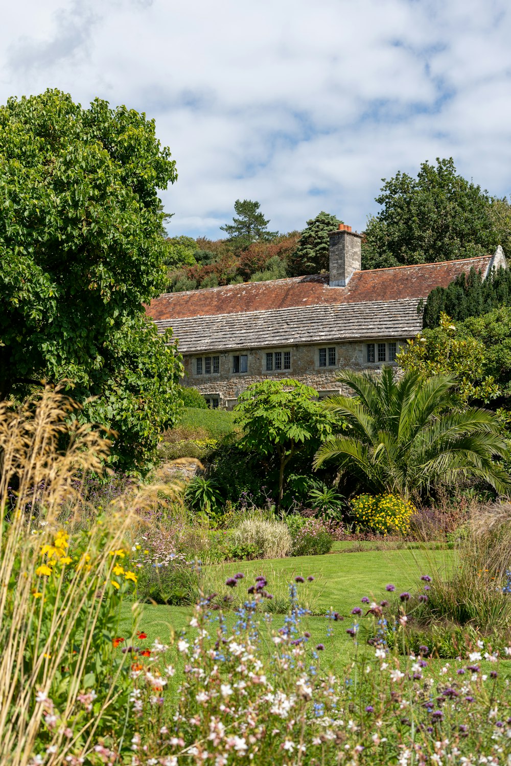
<path id="1" fill-rule="evenodd" d="M 284 472 L 296 452 L 311 440 L 322 441 L 332 432 L 317 391 L 294 380 L 253 383 L 238 398 L 237 424 L 243 429 L 242 450 L 277 458 L 278 502 L 282 500 Z"/>

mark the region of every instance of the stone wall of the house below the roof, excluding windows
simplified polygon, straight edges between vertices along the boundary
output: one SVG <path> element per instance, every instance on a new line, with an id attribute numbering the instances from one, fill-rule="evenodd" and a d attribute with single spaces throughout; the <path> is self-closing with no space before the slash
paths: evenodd
<path id="1" fill-rule="evenodd" d="M 389 339 L 396 342 L 395 338 Z M 378 339 L 378 342 L 384 342 Z M 388 342 L 388 341 L 385 341 Z M 404 340 L 401 343 L 405 342 Z M 330 367 L 319 366 L 319 349 L 336 349 L 336 365 Z M 290 369 L 279 372 L 266 372 L 267 352 L 290 352 Z M 247 355 L 247 372 L 232 372 L 233 355 Z M 237 397 L 251 383 L 258 383 L 268 378 L 282 379 L 294 378 L 306 385 L 316 388 L 319 396 L 333 393 L 344 393 L 342 386 L 336 381 L 340 370 L 350 368 L 355 370 L 378 369 L 382 365 L 378 362 L 369 364 L 365 361 L 367 356 L 365 342 L 331 343 L 329 345 L 296 345 L 273 349 L 236 349 L 235 352 L 211 352 L 207 356 L 218 356 L 220 359 L 220 372 L 216 375 L 196 375 L 196 359 L 206 355 L 185 355 L 186 377 L 183 385 L 197 388 L 201 394 L 218 398 L 221 408 L 231 410 L 237 402 Z M 328 363 L 328 355 L 327 355 Z M 211 362 L 212 365 L 212 362 Z M 203 369 L 205 364 L 203 361 Z"/>

